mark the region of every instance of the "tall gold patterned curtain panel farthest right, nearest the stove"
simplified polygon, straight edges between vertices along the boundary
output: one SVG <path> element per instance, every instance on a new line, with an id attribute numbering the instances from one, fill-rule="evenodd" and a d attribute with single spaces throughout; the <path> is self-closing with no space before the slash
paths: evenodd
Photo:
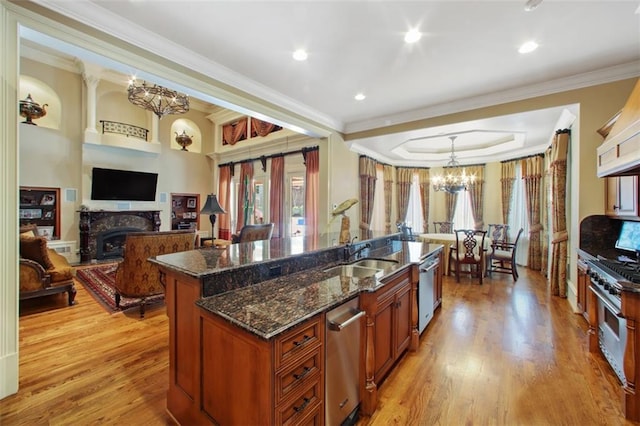
<path id="1" fill-rule="evenodd" d="M 567 297 L 567 151 L 570 130 L 558 130 L 551 143 L 551 268 L 550 286 L 554 296 Z"/>

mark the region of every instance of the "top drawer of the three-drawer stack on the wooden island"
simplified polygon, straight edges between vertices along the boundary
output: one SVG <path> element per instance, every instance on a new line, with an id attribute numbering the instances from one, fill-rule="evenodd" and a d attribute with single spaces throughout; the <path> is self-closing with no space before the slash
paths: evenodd
<path id="1" fill-rule="evenodd" d="M 275 370 L 308 354 L 322 342 L 320 317 L 311 319 L 287 332 L 275 342 Z"/>

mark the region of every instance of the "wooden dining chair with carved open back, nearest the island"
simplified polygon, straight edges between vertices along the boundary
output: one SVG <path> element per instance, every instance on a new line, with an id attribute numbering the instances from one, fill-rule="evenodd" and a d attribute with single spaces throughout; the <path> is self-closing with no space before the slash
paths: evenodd
<path id="1" fill-rule="evenodd" d="M 451 275 L 451 265 L 455 265 L 456 282 L 460 282 L 460 274 L 474 275 L 482 284 L 484 275 L 484 238 L 487 231 L 477 231 L 475 229 L 456 229 L 456 244 L 449 247 L 449 275 Z M 469 265 L 468 271 L 463 271 L 462 266 Z"/>

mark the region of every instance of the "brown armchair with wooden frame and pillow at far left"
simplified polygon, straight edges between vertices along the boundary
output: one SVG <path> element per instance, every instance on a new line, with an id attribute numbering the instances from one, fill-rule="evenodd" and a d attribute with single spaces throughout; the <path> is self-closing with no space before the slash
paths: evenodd
<path id="1" fill-rule="evenodd" d="M 66 292 L 69 305 L 73 305 L 73 267 L 47 247 L 46 238 L 35 236 L 33 231 L 20 231 L 20 300 Z"/>

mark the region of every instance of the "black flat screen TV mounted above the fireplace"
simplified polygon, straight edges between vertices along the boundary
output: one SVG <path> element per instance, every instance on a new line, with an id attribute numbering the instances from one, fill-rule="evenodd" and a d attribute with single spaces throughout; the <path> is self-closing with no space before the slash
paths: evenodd
<path id="1" fill-rule="evenodd" d="M 112 201 L 155 201 L 157 173 L 93 168 L 91 199 Z"/>

